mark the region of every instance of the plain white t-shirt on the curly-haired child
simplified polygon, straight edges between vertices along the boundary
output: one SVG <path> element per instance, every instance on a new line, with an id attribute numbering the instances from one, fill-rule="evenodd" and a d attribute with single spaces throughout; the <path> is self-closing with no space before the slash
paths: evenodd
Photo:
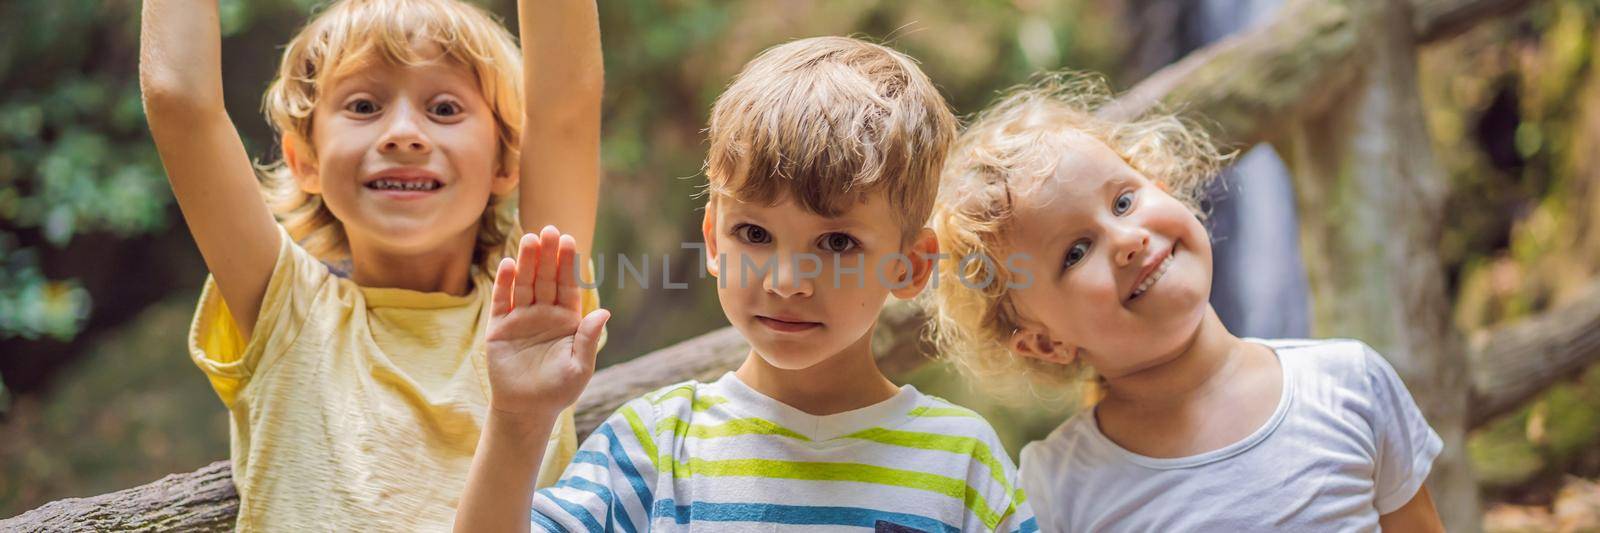
<path id="1" fill-rule="evenodd" d="M 1042 531 L 1378 531 L 1443 442 L 1394 368 L 1360 341 L 1261 341 L 1283 368 L 1254 434 L 1187 458 L 1107 439 L 1085 410 L 1022 448 Z"/>

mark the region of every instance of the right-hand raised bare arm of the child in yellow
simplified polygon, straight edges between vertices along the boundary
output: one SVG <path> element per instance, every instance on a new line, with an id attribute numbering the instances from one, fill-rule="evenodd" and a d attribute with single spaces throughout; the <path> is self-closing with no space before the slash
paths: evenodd
<path id="1" fill-rule="evenodd" d="M 557 226 L 592 253 L 600 202 L 600 16 L 595 0 L 518 0 L 522 227 Z"/>

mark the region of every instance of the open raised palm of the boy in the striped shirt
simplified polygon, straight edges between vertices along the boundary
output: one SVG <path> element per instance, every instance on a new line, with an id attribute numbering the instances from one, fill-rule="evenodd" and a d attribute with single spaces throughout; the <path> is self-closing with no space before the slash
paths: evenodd
<path id="1" fill-rule="evenodd" d="M 488 325 L 490 408 L 517 419 L 554 418 L 578 402 L 595 371 L 611 312 L 579 320 L 576 242 L 546 226 L 523 235 L 517 259 L 494 272 Z"/>

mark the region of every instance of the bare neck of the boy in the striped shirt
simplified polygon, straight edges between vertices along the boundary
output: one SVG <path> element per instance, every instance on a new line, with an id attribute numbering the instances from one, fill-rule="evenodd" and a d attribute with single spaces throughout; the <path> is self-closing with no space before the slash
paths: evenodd
<path id="1" fill-rule="evenodd" d="M 816 416 L 859 410 L 899 392 L 872 357 L 870 328 L 845 351 L 798 370 L 773 367 L 752 349 L 734 375 L 750 389 Z"/>

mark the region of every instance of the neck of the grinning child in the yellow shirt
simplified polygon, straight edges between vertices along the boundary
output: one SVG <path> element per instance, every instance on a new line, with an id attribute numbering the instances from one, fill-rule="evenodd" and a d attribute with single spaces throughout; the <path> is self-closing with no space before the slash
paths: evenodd
<path id="1" fill-rule="evenodd" d="M 350 235 L 350 280 L 362 287 L 466 295 L 477 226 L 432 250 L 392 250 Z"/>

